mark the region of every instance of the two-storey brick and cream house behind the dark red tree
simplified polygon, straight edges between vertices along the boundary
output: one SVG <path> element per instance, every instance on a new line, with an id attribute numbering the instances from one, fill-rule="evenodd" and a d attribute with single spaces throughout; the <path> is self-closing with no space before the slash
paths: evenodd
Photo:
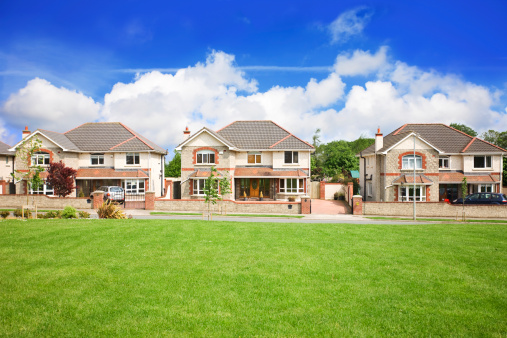
<path id="1" fill-rule="evenodd" d="M 163 193 L 164 158 L 167 151 L 119 122 L 85 123 L 65 133 L 37 129 L 23 131 L 23 140 L 37 137 L 42 147 L 31 159 L 42 166 L 60 160 L 77 170 L 77 189 L 71 196 L 90 196 L 104 185 L 122 186 L 126 192 Z M 33 163 L 33 162 L 32 162 Z M 15 160 L 16 170 L 26 170 L 27 163 Z M 41 173 L 44 179 L 46 172 Z M 26 193 L 27 182 L 18 182 L 18 194 Z M 44 184 L 32 194 L 53 195 L 53 189 Z"/>

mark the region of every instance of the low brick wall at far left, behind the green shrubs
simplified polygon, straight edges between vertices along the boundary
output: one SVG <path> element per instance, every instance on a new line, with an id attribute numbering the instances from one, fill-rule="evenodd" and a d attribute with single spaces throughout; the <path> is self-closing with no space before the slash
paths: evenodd
<path id="1" fill-rule="evenodd" d="M 86 197 L 48 197 L 46 195 L 28 195 L 28 205 L 35 203 L 37 209 L 63 209 L 70 205 L 76 209 L 92 209 Z M 0 195 L 0 208 L 21 208 L 26 205 L 26 195 Z"/>

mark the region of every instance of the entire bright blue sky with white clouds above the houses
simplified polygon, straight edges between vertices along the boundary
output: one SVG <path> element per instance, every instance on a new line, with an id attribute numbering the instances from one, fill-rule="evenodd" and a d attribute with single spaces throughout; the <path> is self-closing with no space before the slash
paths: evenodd
<path id="1" fill-rule="evenodd" d="M 271 119 L 311 139 L 507 130 L 505 1 L 2 1 L 0 138 Z"/>

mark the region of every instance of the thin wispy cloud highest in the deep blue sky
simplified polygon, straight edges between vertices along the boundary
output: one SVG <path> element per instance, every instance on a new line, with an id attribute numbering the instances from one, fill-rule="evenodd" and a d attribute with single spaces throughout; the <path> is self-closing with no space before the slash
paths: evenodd
<path id="1" fill-rule="evenodd" d="M 358 7 L 340 14 L 328 26 L 331 43 L 345 42 L 351 36 L 361 34 L 371 16 L 372 12 L 366 7 Z"/>

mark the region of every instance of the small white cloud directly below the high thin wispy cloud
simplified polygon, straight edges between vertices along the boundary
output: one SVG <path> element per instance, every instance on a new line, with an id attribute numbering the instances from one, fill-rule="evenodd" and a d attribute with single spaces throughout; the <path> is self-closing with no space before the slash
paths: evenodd
<path id="1" fill-rule="evenodd" d="M 382 46 L 375 53 L 356 50 L 352 54 L 342 53 L 336 58 L 334 71 L 338 75 L 369 75 L 387 66 L 387 47 Z"/>

